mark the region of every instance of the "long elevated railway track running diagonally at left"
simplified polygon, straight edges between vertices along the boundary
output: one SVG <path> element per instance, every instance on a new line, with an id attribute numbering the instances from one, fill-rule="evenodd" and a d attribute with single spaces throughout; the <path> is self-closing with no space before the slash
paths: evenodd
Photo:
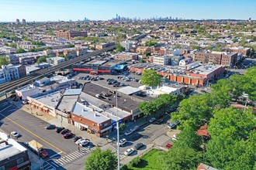
<path id="1" fill-rule="evenodd" d="M 2 84 L 0 84 L 0 97 L 4 96 L 6 92 L 8 92 L 12 89 L 15 89 L 16 87 L 20 87 L 23 84 L 33 82 L 34 80 L 38 80 L 40 77 L 46 75 L 47 73 L 52 73 L 56 70 L 60 70 L 67 66 L 71 66 L 74 63 L 85 61 L 86 59 L 90 59 L 92 56 L 97 56 L 101 53 L 107 52 L 107 51 L 115 49 L 115 48 L 116 48 L 116 45 L 109 46 L 104 49 L 100 49 L 100 50 L 94 51 L 92 53 L 85 54 L 84 56 L 78 56 L 75 59 L 71 59 L 71 60 L 65 61 L 64 63 L 60 63 L 57 66 L 51 66 L 47 69 L 38 70 L 35 73 L 28 75 L 28 76 L 24 76 L 18 80 L 12 80 L 12 81 L 9 81 L 6 83 L 2 83 Z"/>

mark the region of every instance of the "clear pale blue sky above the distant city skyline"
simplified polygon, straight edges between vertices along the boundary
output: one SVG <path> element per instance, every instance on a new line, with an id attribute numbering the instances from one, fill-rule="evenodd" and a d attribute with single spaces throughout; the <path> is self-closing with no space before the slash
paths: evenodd
<path id="1" fill-rule="evenodd" d="M 256 0 L 0 0 L 0 22 L 137 19 L 256 19 Z"/>

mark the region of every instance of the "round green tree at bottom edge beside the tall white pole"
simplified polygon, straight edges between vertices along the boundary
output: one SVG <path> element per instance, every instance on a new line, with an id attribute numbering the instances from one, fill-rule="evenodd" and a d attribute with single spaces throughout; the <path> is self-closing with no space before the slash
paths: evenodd
<path id="1" fill-rule="evenodd" d="M 101 151 L 100 148 L 96 148 L 91 152 L 91 155 L 85 161 L 86 170 L 109 170 L 117 168 L 116 155 L 109 149 Z"/>

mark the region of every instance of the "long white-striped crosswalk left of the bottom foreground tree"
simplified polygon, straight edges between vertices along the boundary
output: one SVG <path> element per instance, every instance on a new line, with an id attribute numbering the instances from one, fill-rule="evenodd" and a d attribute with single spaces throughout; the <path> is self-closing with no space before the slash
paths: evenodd
<path id="1" fill-rule="evenodd" d="M 81 158 L 84 155 L 87 155 L 91 151 L 94 151 L 96 148 L 81 148 L 80 151 L 74 151 L 68 155 L 64 155 L 61 158 L 53 159 L 54 163 L 57 163 L 58 165 L 65 165 L 69 162 L 73 162 L 77 158 Z"/>

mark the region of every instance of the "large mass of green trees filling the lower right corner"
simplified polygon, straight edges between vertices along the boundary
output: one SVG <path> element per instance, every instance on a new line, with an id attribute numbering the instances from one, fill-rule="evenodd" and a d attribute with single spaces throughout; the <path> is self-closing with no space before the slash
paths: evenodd
<path id="1" fill-rule="evenodd" d="M 159 158 L 163 169 L 195 169 L 200 162 L 218 169 L 256 169 L 256 127 L 251 107 L 230 107 L 242 93 L 255 100 L 256 67 L 243 75 L 230 76 L 211 87 L 212 93 L 193 95 L 182 100 L 171 114 L 182 132 L 173 147 Z M 210 139 L 196 134 L 208 124 Z"/>

